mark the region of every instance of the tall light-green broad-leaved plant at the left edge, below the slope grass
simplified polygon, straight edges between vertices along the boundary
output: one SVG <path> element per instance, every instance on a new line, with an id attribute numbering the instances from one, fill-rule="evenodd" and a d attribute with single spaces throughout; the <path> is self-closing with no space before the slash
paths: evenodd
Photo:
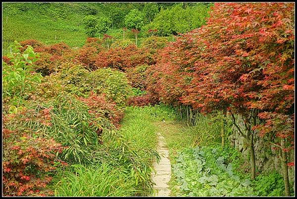
<path id="1" fill-rule="evenodd" d="M 42 76 L 33 72 L 32 65 L 39 54 L 31 46 L 23 53 L 19 49 L 22 46 L 16 41 L 11 47 L 12 53 L 7 55 L 9 65 L 2 61 L 3 111 L 16 113 L 35 89 L 33 85 L 41 82 Z"/>

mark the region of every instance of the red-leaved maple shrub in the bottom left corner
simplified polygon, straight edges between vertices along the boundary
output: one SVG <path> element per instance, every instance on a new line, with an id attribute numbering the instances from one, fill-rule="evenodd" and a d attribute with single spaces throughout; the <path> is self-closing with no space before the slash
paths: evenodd
<path id="1" fill-rule="evenodd" d="M 25 131 L 7 129 L 6 122 L 9 117 L 3 117 L 2 120 L 3 195 L 52 195 L 53 192 L 46 189 L 47 184 L 51 181 L 49 171 L 57 168 L 57 162 L 66 164 L 56 158 L 56 153 L 61 153 L 63 147 L 53 139 L 36 138 Z M 33 132 L 29 133 L 34 134 Z"/>

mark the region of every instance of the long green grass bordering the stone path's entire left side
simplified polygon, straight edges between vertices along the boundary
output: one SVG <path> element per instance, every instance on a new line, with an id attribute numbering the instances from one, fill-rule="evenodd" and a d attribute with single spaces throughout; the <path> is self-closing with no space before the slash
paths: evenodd
<path id="1" fill-rule="evenodd" d="M 158 112 L 155 115 L 155 110 Z M 102 135 L 95 152 L 100 162 L 60 170 L 53 181 L 55 196 L 148 196 L 153 194 L 152 160 L 159 159 L 152 121 L 168 117 L 162 107 L 127 107 L 122 127 Z"/>

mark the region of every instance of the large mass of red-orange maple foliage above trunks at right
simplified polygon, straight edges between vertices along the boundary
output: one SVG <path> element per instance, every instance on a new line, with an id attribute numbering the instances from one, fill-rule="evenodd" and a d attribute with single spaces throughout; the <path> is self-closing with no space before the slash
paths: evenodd
<path id="1" fill-rule="evenodd" d="M 148 90 L 164 103 L 241 115 L 246 127 L 264 117 L 261 134 L 288 140 L 294 136 L 294 10 L 289 2 L 215 3 L 205 26 L 160 52 L 148 69 Z"/>

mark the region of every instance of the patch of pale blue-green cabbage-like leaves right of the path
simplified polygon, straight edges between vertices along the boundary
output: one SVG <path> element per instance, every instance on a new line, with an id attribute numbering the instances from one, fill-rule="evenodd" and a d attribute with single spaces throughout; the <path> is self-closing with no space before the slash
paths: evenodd
<path id="1" fill-rule="evenodd" d="M 234 173 L 216 148 L 182 151 L 173 165 L 183 196 L 254 196 L 250 181 Z"/>

